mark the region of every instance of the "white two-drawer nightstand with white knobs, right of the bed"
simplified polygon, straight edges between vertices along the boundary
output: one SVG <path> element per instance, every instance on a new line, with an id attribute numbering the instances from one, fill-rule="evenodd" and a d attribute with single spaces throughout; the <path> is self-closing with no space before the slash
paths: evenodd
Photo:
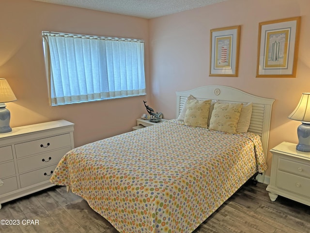
<path id="1" fill-rule="evenodd" d="M 296 150 L 296 144 L 282 142 L 271 149 L 270 200 L 278 195 L 310 206 L 310 152 Z"/>

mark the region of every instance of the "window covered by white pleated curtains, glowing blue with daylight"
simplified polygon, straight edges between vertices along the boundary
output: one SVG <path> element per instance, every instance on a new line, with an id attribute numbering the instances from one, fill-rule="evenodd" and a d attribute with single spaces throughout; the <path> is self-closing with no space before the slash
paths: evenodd
<path id="1" fill-rule="evenodd" d="M 42 35 L 52 106 L 145 95 L 143 40 Z"/>

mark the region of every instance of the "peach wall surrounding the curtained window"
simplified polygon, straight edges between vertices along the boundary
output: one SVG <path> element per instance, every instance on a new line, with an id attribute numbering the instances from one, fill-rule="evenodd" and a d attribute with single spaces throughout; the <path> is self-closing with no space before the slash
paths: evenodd
<path id="1" fill-rule="evenodd" d="M 130 131 L 145 111 L 145 96 L 49 106 L 42 31 L 144 39 L 150 83 L 148 20 L 32 0 L 0 0 L 0 22 L 0 77 L 8 80 L 17 98 L 7 103 L 11 127 L 66 119 L 76 124 L 75 145 L 80 146 Z"/>

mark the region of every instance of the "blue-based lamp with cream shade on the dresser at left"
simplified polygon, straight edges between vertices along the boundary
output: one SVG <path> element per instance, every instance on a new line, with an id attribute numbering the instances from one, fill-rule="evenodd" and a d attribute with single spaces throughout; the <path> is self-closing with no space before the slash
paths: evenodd
<path id="1" fill-rule="evenodd" d="M 17 100 L 9 83 L 6 79 L 0 78 L 0 133 L 11 132 L 10 118 L 11 114 L 8 109 L 6 109 L 6 102 L 12 102 Z"/>

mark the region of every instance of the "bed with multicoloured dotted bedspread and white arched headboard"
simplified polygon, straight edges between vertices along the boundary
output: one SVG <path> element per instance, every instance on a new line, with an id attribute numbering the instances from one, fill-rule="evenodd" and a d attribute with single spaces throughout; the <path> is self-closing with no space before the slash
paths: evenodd
<path id="1" fill-rule="evenodd" d="M 274 100 L 219 85 L 176 96 L 175 119 L 75 148 L 50 181 L 85 199 L 120 233 L 193 232 L 258 172 L 262 182 Z M 209 105 L 210 127 L 223 106 L 235 114 L 250 104 L 247 132 L 188 124 L 196 117 L 189 112 L 202 109 L 195 103 Z"/>

